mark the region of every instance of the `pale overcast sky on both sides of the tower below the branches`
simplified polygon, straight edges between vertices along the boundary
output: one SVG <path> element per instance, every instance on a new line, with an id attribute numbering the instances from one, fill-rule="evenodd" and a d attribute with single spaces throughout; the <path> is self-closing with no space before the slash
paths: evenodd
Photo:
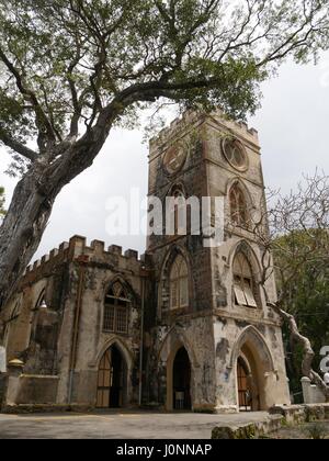
<path id="1" fill-rule="evenodd" d="M 316 168 L 329 172 L 329 54 L 318 66 L 287 64 L 280 76 L 263 86 L 262 109 L 250 121 L 260 134 L 265 183 L 284 192 L 294 189 L 303 173 Z M 72 235 L 105 240 L 144 252 L 144 236 L 106 234 L 106 200 L 129 196 L 138 188 L 147 193 L 147 145 L 138 131 L 115 131 L 94 165 L 57 198 L 36 257 Z M 3 173 L 9 157 L 0 149 L 0 185 L 10 196 L 15 181 Z M 35 258 L 36 258 L 35 257 Z"/>

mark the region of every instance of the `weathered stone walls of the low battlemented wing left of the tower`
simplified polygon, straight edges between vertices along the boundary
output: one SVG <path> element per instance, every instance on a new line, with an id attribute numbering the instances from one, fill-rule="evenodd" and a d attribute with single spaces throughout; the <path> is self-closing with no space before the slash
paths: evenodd
<path id="1" fill-rule="evenodd" d="M 102 328 L 106 290 L 115 280 L 126 286 L 132 300 L 126 335 Z M 9 360 L 23 362 L 22 375 L 10 378 L 10 404 L 94 406 L 99 363 L 113 344 L 127 364 L 125 404 L 136 404 L 141 280 L 148 297 L 151 278 L 136 251 L 123 254 L 117 246 L 105 250 L 98 240 L 88 246 L 79 236 L 29 268 L 2 314 L 10 326 Z"/>

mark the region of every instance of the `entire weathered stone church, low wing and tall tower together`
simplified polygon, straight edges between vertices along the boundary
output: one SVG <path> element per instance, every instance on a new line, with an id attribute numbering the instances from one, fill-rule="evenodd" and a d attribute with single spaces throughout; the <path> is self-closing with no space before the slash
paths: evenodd
<path id="1" fill-rule="evenodd" d="M 224 241 L 151 235 L 139 258 L 75 236 L 29 267 L 1 313 L 2 411 L 290 404 L 281 322 L 266 303 L 274 274 L 260 283 L 250 228 L 265 207 L 257 132 L 220 111 L 188 112 L 150 142 L 149 195 L 223 198 Z"/>

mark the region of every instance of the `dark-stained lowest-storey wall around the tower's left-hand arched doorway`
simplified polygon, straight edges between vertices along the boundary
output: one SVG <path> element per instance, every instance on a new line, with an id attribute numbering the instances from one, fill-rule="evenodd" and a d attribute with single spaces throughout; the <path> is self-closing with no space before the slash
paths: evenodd
<path id="1" fill-rule="evenodd" d="M 181 317 L 174 326 L 154 328 L 148 335 L 149 369 L 147 381 L 151 386 L 148 400 L 163 408 L 173 408 L 172 368 L 178 350 L 186 349 L 191 362 L 191 398 L 193 411 L 213 412 L 216 378 L 214 374 L 213 319 L 207 313 Z"/>

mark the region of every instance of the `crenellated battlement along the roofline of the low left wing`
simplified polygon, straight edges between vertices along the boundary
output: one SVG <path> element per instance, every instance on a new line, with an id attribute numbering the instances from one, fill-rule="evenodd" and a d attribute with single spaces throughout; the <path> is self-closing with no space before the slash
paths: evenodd
<path id="1" fill-rule="evenodd" d="M 48 255 L 26 268 L 24 277 L 36 271 L 43 271 L 47 267 L 53 267 L 64 262 L 106 262 L 113 257 L 122 258 L 127 265 L 140 265 L 143 268 L 147 262 L 147 255 L 139 258 L 138 251 L 128 249 L 123 252 L 123 248 L 117 245 L 111 245 L 105 248 L 105 243 L 92 240 L 87 245 L 87 238 L 76 235 L 69 241 L 64 241 L 58 248 L 53 249 Z"/>

